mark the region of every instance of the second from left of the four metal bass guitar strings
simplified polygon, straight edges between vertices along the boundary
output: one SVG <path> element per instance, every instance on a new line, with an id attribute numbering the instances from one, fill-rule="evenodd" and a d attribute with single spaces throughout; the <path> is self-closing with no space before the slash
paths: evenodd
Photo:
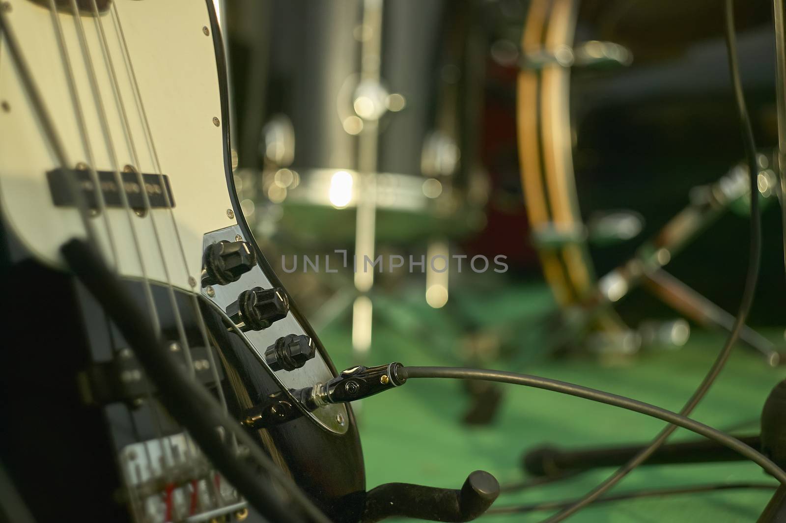
<path id="1" fill-rule="evenodd" d="M 87 76 L 88 79 L 90 80 L 90 88 L 93 91 L 93 95 L 94 95 L 93 97 L 99 117 L 98 119 L 99 122 L 101 123 L 101 130 L 102 133 L 104 134 L 104 138 L 106 141 L 107 153 L 110 158 L 110 163 L 112 163 L 112 169 L 114 170 L 115 183 L 118 186 L 118 195 L 120 198 L 120 202 L 122 203 L 123 210 L 125 210 L 128 226 L 134 243 L 134 248 L 136 249 L 138 262 L 141 268 L 142 284 L 145 291 L 145 300 L 148 303 L 148 312 L 152 320 L 153 328 L 156 331 L 156 335 L 161 336 L 160 317 L 156 309 L 156 304 L 152 298 L 152 287 L 150 284 L 147 267 L 145 265 L 145 259 L 141 252 L 141 245 L 139 243 L 137 229 L 134 225 L 134 214 L 128 202 L 126 185 L 123 182 L 122 175 L 120 174 L 119 171 L 119 162 L 117 159 L 114 143 L 112 141 L 112 133 L 111 130 L 109 130 L 106 110 L 105 110 L 103 99 L 101 97 L 101 89 L 98 86 L 97 76 L 93 65 L 93 58 L 90 54 L 90 48 L 87 43 L 86 33 L 84 31 L 84 26 L 82 24 L 82 18 L 79 15 L 79 6 L 76 4 L 76 0 L 71 0 L 71 9 L 72 9 L 72 16 L 74 19 L 75 27 L 77 30 L 77 35 L 79 37 L 79 45 L 83 53 L 83 60 L 85 61 Z M 168 438 L 163 437 L 162 425 L 158 417 L 158 412 L 156 411 L 155 408 L 155 403 L 152 398 L 152 390 L 149 384 L 145 386 L 145 396 L 147 397 L 149 408 L 152 415 L 152 428 L 155 436 L 154 439 L 157 441 L 161 453 L 161 460 L 160 460 L 161 469 L 165 476 L 169 476 L 171 478 L 173 477 L 173 473 L 170 470 L 170 465 L 171 463 L 174 464 L 171 442 L 169 441 Z M 145 449 L 147 449 L 147 444 L 145 442 L 142 442 L 142 444 L 145 447 Z M 168 452 L 166 452 L 167 450 Z M 149 464 L 150 474 L 152 477 L 153 463 L 152 461 L 149 461 L 148 464 Z"/>

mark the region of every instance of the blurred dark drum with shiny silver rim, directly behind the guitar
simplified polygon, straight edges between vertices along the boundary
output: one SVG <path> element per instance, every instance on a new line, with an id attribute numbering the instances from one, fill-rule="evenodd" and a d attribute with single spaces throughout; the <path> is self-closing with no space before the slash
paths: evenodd
<path id="1" fill-rule="evenodd" d="M 482 220 L 476 2 L 239 3 L 259 3 L 230 24 L 249 108 L 237 177 L 262 236 L 351 241 L 358 203 L 376 210 L 380 241 Z M 270 31 L 240 16 L 254 9 Z"/>

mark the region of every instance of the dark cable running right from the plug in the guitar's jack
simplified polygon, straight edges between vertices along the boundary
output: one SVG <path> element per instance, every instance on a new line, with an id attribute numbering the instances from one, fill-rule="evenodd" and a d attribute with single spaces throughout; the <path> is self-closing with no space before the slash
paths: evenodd
<path id="1" fill-rule="evenodd" d="M 576 385 L 571 382 L 563 382 L 557 379 L 542 378 L 541 376 L 518 374 L 516 372 L 493 371 L 479 368 L 461 367 L 405 367 L 403 369 L 407 379 L 417 378 L 440 378 L 440 379 L 479 379 L 489 382 L 510 383 L 534 387 L 536 389 L 551 390 L 552 392 L 567 394 L 568 396 L 581 397 L 585 400 L 597 401 L 614 407 L 624 408 L 639 414 L 648 415 L 652 418 L 662 419 L 674 426 L 681 426 L 691 432 L 700 434 L 713 441 L 717 441 L 725 447 L 743 455 L 752 462 L 761 466 L 769 474 L 773 475 L 781 484 L 786 485 L 786 472 L 780 469 L 777 464 L 751 448 L 736 437 L 721 430 L 714 429 L 695 419 L 669 411 L 665 408 L 657 407 L 644 401 L 634 400 L 631 397 L 620 396 L 604 392 L 603 390 L 591 389 L 589 387 Z"/>

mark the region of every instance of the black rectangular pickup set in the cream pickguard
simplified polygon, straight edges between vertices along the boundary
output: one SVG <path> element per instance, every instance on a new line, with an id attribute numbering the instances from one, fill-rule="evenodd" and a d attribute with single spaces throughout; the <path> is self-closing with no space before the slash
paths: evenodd
<path id="1" fill-rule="evenodd" d="M 97 170 L 98 185 L 101 187 L 101 194 L 104 196 L 106 207 L 123 207 L 123 199 L 119 191 L 116 180 L 116 173 L 112 170 Z M 72 183 L 68 180 L 72 177 L 79 191 L 87 204 L 93 210 L 98 209 L 97 191 L 90 176 L 90 171 L 83 169 L 64 170 L 57 168 L 46 173 L 49 181 L 52 202 L 57 207 L 75 207 Z M 145 210 L 145 199 L 142 195 L 142 188 L 139 185 L 139 174 L 135 172 L 122 172 L 120 178 L 123 181 L 123 190 L 128 199 L 128 205 L 133 210 Z M 166 209 L 174 207 L 174 196 L 169 185 L 169 177 L 166 174 L 142 174 L 141 179 L 145 185 L 151 209 Z M 169 199 L 167 201 L 167 195 Z M 168 205 L 167 205 L 168 204 Z"/>

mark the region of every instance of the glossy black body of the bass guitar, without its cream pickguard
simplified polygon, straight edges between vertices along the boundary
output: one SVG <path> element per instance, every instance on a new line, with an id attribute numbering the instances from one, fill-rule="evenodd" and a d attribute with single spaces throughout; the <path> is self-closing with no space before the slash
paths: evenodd
<path id="1" fill-rule="evenodd" d="M 206 3 L 219 71 L 226 188 L 237 227 L 256 250 L 258 269 L 270 283 L 281 287 L 252 240 L 233 188 L 226 68 L 213 2 Z M 207 35 L 207 26 L 205 31 Z M 176 181 L 174 194 L 178 194 Z M 184 204 L 182 199 L 178 201 L 178 205 Z M 7 218 L 9 210 L 2 211 Z M 196 481 L 193 479 L 196 476 L 201 478 L 201 483 L 193 483 L 195 492 L 204 488 L 236 496 L 231 492 L 231 485 L 222 484 L 214 471 L 204 472 L 207 470 L 203 470 L 207 466 L 204 460 L 189 461 L 180 454 L 181 450 L 171 450 L 178 445 L 179 440 L 174 438 L 182 438 L 184 430 L 161 407 L 154 387 L 146 382 L 138 365 L 123 367 L 133 361 L 132 353 L 101 305 L 74 276 L 39 262 L 25 247 L 30 239 L 21 241 L 7 219 L 3 220 L 0 232 L 0 288 L 5 302 L 2 328 L 6 333 L 0 347 L 0 463 L 35 521 L 150 521 L 144 514 L 130 509 L 134 492 L 144 489 L 129 488 L 129 485 L 135 485 L 135 481 L 139 485 L 144 483 L 142 479 L 147 473 L 143 469 L 160 466 L 161 459 L 156 465 L 156 444 L 163 449 L 160 451 L 163 455 L 169 452 L 174 463 L 167 465 L 171 466 L 168 473 L 162 466 L 158 482 L 151 479 L 149 485 L 153 486 L 145 487 L 155 491 L 152 494 L 145 491 L 145 496 L 161 504 L 163 515 L 159 521 L 182 521 L 200 512 L 197 507 L 200 498 L 193 494 L 189 501 L 187 497 L 188 485 Z M 127 291 L 146 309 L 143 284 L 135 278 L 124 278 L 124 281 Z M 151 287 L 163 338 L 178 340 L 177 319 L 172 313 L 167 286 L 152 282 Z M 217 397 L 220 389 L 231 417 L 241 421 L 246 408 L 286 389 L 260 360 L 259 350 L 264 351 L 265 347 L 252 347 L 246 338 L 232 331 L 226 313 L 214 302 L 204 294 L 196 296 L 210 341 L 210 347 L 205 347 L 193 294 L 174 288 L 174 296 L 190 351 L 200 358 L 195 360 L 197 366 L 204 365 L 196 375 L 204 377 L 203 385 Z M 316 342 L 319 356 L 335 375 L 325 348 L 299 314 L 292 297 L 289 299 L 290 313 Z M 211 379 L 214 369 L 208 372 L 208 351 L 214 357 L 210 361 L 215 363 L 217 381 Z M 129 387 L 141 385 L 145 386 L 145 394 L 128 393 Z M 365 497 L 365 474 L 358 431 L 348 406 L 342 424 L 346 425 L 345 432 L 336 433 L 303 415 L 266 430 L 249 431 L 329 518 L 358 521 Z M 145 441 L 149 443 L 141 443 Z M 188 439 L 184 441 L 183 448 L 189 450 Z M 149 461 L 145 462 L 140 453 L 150 453 Z M 178 463 L 193 477 L 185 473 L 178 476 Z M 272 488 L 263 474 L 259 481 Z M 178 488 L 182 490 L 179 494 Z M 4 510 L 8 499 L 6 494 L 0 496 Z M 145 503 L 149 500 L 138 503 L 137 510 Z M 237 510 L 225 510 L 216 517 L 224 518 L 218 521 L 262 521 L 252 507 L 244 505 L 238 505 Z M 9 518 L 13 521 L 13 516 Z"/>

